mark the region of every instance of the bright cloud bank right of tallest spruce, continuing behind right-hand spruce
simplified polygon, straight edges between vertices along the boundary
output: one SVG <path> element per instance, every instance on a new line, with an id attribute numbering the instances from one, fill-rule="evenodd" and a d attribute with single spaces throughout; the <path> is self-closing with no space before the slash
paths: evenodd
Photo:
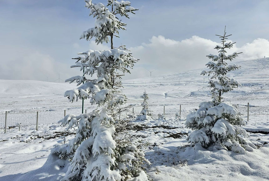
<path id="1" fill-rule="evenodd" d="M 166 39 L 163 36 L 153 36 L 149 43 L 143 43 L 140 46 L 131 48 L 134 57 L 140 59 L 140 61 L 131 71 L 132 75 L 126 78 L 148 76 L 149 72 L 144 68 L 158 69 L 153 75 L 203 68 L 209 61 L 206 55 L 218 54 L 214 49 L 217 44 L 220 43 L 199 36 L 192 36 L 182 41 Z M 264 56 L 268 57 L 268 49 L 268 40 L 255 39 L 242 47 L 236 47 L 235 44 L 234 48 L 228 53 L 242 51 L 244 59 L 257 59 Z M 236 60 L 242 60 L 242 54 Z"/>

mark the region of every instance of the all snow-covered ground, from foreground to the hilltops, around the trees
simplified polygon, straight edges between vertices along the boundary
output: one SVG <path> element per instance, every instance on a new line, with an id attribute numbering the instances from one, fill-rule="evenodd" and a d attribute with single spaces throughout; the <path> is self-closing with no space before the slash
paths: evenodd
<path id="1" fill-rule="evenodd" d="M 242 87 L 225 94 L 226 101 L 240 105 L 246 118 L 246 105 L 250 103 L 250 120 L 245 129 L 251 132 L 269 131 L 269 58 L 235 62 L 242 66 L 230 74 Z M 124 80 L 122 91 L 128 104 L 136 104 L 140 111 L 140 96 L 144 90 L 149 95 L 150 108 L 156 115 L 167 113 L 166 120 L 139 124 L 132 130 L 141 139 L 149 142 L 146 157 L 152 165 L 148 174 L 153 180 L 268 180 L 269 179 L 269 134 L 250 133 L 249 139 L 259 146 L 245 155 L 230 151 L 206 151 L 200 147 L 187 147 L 186 136 L 191 130 L 184 127 L 184 117 L 201 101 L 210 101 L 209 88 L 200 70 L 190 70 L 169 75 L 158 75 L 134 80 Z M 66 90 L 75 84 L 41 81 L 0 80 L 0 180 L 59 180 L 66 172 L 68 163 L 55 162 L 49 156 L 55 144 L 62 144 L 63 128 L 55 123 L 63 116 L 63 110 L 79 114 L 81 101 L 69 103 L 63 97 Z M 182 109 L 182 120 L 174 113 Z M 94 106 L 85 101 L 87 112 Z M 8 124 L 21 122 L 18 127 L 3 133 L 5 111 Z M 36 111 L 41 116 L 39 130 L 35 131 Z M 168 113 L 173 114 L 168 114 Z M 31 119 L 29 124 L 22 121 Z M 43 121 L 43 122 L 42 122 Z M 45 125 L 43 125 L 45 124 Z M 49 127 L 50 126 L 50 127 Z M 65 139 L 73 136 L 69 132 Z M 264 144 L 264 145 L 263 145 Z M 48 158 L 49 156 L 49 158 Z M 187 162 L 187 164 L 185 164 Z"/>

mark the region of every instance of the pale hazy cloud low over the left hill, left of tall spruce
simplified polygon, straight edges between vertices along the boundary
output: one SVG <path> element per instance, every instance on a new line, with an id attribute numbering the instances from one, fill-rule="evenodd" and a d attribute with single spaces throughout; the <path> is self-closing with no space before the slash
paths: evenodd
<path id="1" fill-rule="evenodd" d="M 58 79 L 59 73 L 63 80 L 71 75 L 79 74 L 79 70 L 70 69 L 70 65 L 59 63 L 48 54 L 27 49 L 16 53 L 12 57 L 8 57 L 8 59 L 12 59 L 11 61 L 1 63 L 3 65 L 0 68 L 1 79 L 47 81 L 48 77 L 48 81 L 53 82 Z"/>

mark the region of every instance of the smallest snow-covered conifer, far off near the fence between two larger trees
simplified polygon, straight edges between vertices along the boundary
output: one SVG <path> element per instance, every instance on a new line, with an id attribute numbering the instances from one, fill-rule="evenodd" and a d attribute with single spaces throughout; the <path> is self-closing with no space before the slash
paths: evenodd
<path id="1" fill-rule="evenodd" d="M 143 98 L 143 102 L 141 104 L 142 106 L 142 111 L 140 112 L 140 115 L 136 117 L 136 121 L 150 121 L 152 120 L 152 114 L 149 108 L 149 96 L 146 93 L 146 91 L 144 91 L 143 95 L 141 96 L 141 98 Z"/>

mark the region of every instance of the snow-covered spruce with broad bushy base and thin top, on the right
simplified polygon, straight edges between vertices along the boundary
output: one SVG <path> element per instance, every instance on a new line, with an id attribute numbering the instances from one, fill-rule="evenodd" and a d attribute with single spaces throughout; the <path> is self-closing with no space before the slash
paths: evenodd
<path id="1" fill-rule="evenodd" d="M 226 28 L 225 28 L 226 29 Z M 223 93 L 233 90 L 240 85 L 235 79 L 230 79 L 226 74 L 232 70 L 239 69 L 236 64 L 228 65 L 226 61 L 232 61 L 237 54 L 226 55 L 226 49 L 231 49 L 235 43 L 225 43 L 228 36 L 224 30 L 224 35 L 217 35 L 221 38 L 221 44 L 215 49 L 219 50 L 218 55 L 207 55 L 213 62 L 206 65 L 210 70 L 202 71 L 201 75 L 212 75 L 209 81 L 212 101 L 202 102 L 199 109 L 191 112 L 185 125 L 193 131 L 187 138 L 190 145 L 200 144 L 209 150 L 227 149 L 236 153 L 246 153 L 256 149 L 250 141 L 244 139 L 246 131 L 240 126 L 246 122 L 237 110 L 238 106 L 231 102 L 222 102 Z"/>

